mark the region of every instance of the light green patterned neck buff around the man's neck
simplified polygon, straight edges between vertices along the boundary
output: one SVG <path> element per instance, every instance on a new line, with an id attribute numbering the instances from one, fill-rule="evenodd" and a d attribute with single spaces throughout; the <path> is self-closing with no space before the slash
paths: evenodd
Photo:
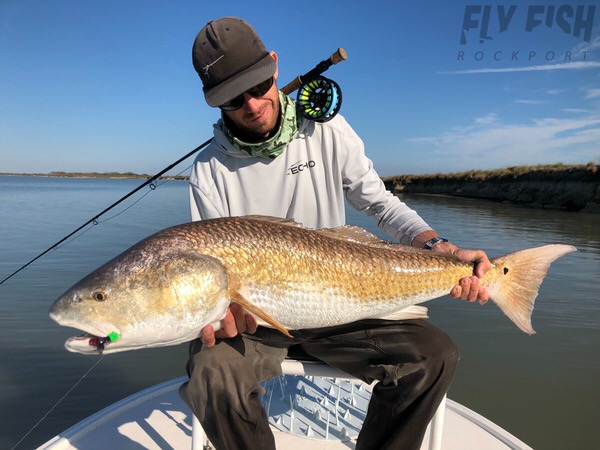
<path id="1" fill-rule="evenodd" d="M 233 145 L 252 156 L 266 159 L 275 159 L 283 152 L 283 149 L 296 137 L 298 132 L 298 118 L 296 117 L 296 104 L 294 101 L 279 91 L 279 104 L 281 105 L 281 117 L 277 134 L 264 142 L 248 143 L 236 138 L 223 124 L 223 131 Z"/>

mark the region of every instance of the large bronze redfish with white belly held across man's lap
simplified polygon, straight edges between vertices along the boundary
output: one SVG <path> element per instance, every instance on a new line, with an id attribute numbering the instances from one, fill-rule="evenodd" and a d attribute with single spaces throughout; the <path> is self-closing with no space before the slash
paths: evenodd
<path id="1" fill-rule="evenodd" d="M 491 259 L 480 283 L 533 334 L 542 280 L 572 251 L 551 244 Z M 143 239 L 68 289 L 49 315 L 84 332 L 65 342 L 83 354 L 193 340 L 206 325 L 218 328 L 232 302 L 292 337 L 295 329 L 401 317 L 447 295 L 473 269 L 454 255 L 392 243 L 360 227 L 315 230 L 274 217 L 224 217 Z"/>

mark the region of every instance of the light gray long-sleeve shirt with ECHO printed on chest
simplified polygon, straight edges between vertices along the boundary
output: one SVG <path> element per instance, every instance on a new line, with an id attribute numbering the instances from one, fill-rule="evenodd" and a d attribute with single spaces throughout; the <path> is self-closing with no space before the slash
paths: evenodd
<path id="1" fill-rule="evenodd" d="M 344 195 L 400 243 L 431 229 L 385 189 L 362 140 L 340 115 L 325 123 L 304 120 L 298 136 L 272 160 L 234 147 L 219 121 L 190 175 L 192 220 L 260 214 L 332 228 L 345 224 Z"/>

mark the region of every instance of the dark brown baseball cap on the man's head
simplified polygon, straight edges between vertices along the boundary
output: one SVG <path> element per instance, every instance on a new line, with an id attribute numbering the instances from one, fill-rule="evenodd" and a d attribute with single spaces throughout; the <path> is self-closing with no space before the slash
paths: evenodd
<path id="1" fill-rule="evenodd" d="M 237 17 L 208 22 L 196 36 L 192 62 L 210 106 L 227 103 L 272 77 L 277 69 L 254 28 Z"/>

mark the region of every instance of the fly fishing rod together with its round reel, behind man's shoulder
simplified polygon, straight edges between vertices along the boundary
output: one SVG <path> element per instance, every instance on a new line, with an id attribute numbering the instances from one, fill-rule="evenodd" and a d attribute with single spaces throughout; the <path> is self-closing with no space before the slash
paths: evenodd
<path id="1" fill-rule="evenodd" d="M 323 72 L 325 72 L 327 69 L 329 69 L 332 65 L 337 64 L 341 61 L 345 61 L 346 59 L 347 59 L 346 51 L 343 48 L 338 48 L 337 51 L 335 53 L 333 53 L 329 58 L 321 61 L 319 64 L 317 64 L 315 66 L 314 69 L 310 70 L 306 74 L 297 76 L 291 83 L 287 84 L 283 89 L 281 89 L 281 91 L 284 94 L 289 95 L 292 92 L 294 92 L 296 89 L 300 89 L 298 94 L 300 95 L 301 92 L 303 92 L 302 95 L 305 97 L 305 100 L 304 100 L 305 106 L 298 107 L 298 110 L 300 111 L 300 113 L 303 114 L 304 117 L 306 117 L 308 119 L 312 119 L 312 120 L 319 120 L 319 121 L 330 120 L 331 118 L 333 118 L 333 116 L 335 116 L 335 114 L 337 114 L 337 112 L 340 109 L 341 91 L 339 90 L 339 86 L 337 86 L 337 84 L 336 84 L 337 88 L 336 88 L 336 86 L 334 86 L 331 83 L 328 84 L 328 82 L 333 82 L 333 80 L 327 80 L 324 77 L 321 77 L 320 75 Z M 325 81 L 325 82 L 318 81 L 320 79 L 327 80 L 327 81 Z M 310 83 L 313 83 L 313 85 L 309 86 Z M 337 91 L 339 91 L 339 93 Z M 300 104 L 300 102 L 298 101 L 297 104 Z M 94 217 L 92 217 L 90 220 L 88 220 L 87 222 L 85 222 L 84 224 L 82 224 L 81 226 L 76 228 L 75 230 L 73 230 L 71 233 L 67 234 L 61 240 L 59 240 L 55 244 L 48 247 L 46 250 L 44 250 L 42 253 L 37 255 L 35 258 L 33 258 L 30 261 L 28 261 L 27 263 L 23 264 L 21 267 L 19 267 L 13 273 L 11 273 L 6 278 L 4 278 L 2 281 L 0 281 L 0 285 L 4 284 L 5 281 L 8 281 L 12 277 L 14 277 L 16 274 L 18 274 L 22 270 L 26 269 L 27 267 L 29 267 L 31 264 L 33 264 L 35 261 L 40 259 L 42 256 L 46 255 L 47 253 L 49 253 L 52 250 L 54 250 L 55 248 L 57 248 L 60 244 L 65 242 L 67 239 L 69 239 L 73 235 L 77 234 L 79 231 L 83 230 L 89 224 L 91 224 L 91 223 L 96 224 L 98 222 L 98 219 L 100 218 L 100 216 L 106 214 L 108 211 L 110 211 L 114 207 L 123 203 L 125 200 L 127 200 L 129 197 L 134 195 L 136 192 L 140 191 L 141 189 L 143 189 L 144 187 L 146 187 L 148 185 L 153 186 L 153 183 L 158 178 L 160 178 L 166 172 L 171 170 L 173 167 L 177 166 L 181 162 L 188 159 L 193 154 L 202 150 L 211 141 L 212 141 L 212 138 L 208 139 L 206 142 L 202 143 L 201 145 L 199 145 L 192 151 L 188 152 L 187 154 L 185 154 L 184 156 L 179 158 L 174 163 L 165 167 L 163 170 L 158 172 L 156 175 L 148 178 L 144 183 L 140 184 L 138 187 L 136 187 L 135 189 L 130 191 L 128 194 L 125 194 L 123 197 L 121 197 L 119 200 L 114 202 L 112 205 L 108 206 L 103 211 L 101 211 L 100 213 L 98 213 Z"/>

